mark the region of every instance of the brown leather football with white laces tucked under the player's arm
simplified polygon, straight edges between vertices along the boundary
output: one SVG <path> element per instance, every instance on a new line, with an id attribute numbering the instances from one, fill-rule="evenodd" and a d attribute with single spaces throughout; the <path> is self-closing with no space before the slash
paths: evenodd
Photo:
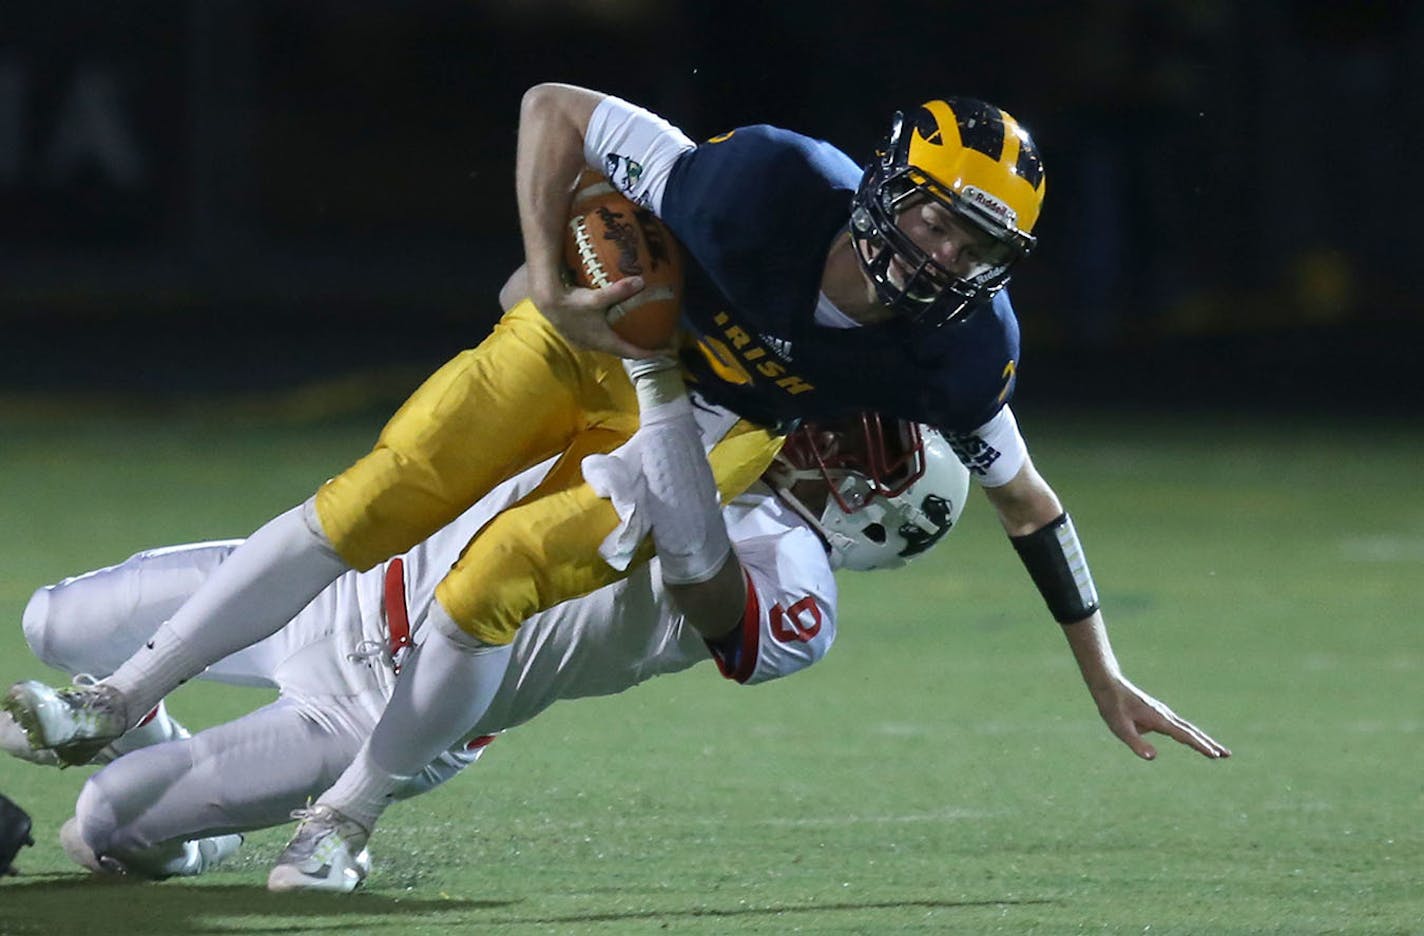
<path id="1" fill-rule="evenodd" d="M 588 289 L 642 276 L 642 292 L 609 308 L 608 325 L 639 348 L 672 345 L 682 315 L 678 244 L 656 215 L 597 172 L 584 172 L 574 191 L 564 262 L 574 282 Z"/>

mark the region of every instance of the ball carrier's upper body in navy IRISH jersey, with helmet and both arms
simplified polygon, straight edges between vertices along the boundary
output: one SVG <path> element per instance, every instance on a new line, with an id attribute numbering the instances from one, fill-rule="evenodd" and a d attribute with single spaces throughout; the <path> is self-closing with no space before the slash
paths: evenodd
<path id="1" fill-rule="evenodd" d="M 691 339 L 678 358 L 696 390 L 762 425 L 863 406 L 943 430 L 1064 625 L 1108 727 L 1153 758 L 1139 728 L 1158 714 L 1118 667 L 1078 534 L 1008 406 L 1018 323 L 1005 285 L 1034 248 L 1045 191 L 1028 132 L 983 101 L 928 101 L 897 114 L 862 168 L 786 130 L 696 145 L 618 98 L 533 88 L 515 177 L 528 292 L 574 340 L 631 355 L 600 315 L 605 296 L 558 274 L 561 181 L 585 164 L 684 246 Z"/>

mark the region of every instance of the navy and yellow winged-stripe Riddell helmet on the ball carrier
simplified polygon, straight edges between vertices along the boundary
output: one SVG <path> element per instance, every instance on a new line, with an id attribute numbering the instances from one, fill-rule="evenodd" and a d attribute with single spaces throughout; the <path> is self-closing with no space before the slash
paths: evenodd
<path id="1" fill-rule="evenodd" d="M 1018 121 L 984 101 L 928 101 L 909 118 L 894 115 L 890 135 L 866 167 L 850 208 L 856 256 L 886 306 L 938 328 L 1002 289 L 1014 265 L 1034 249 L 1044 191 L 1038 147 Z M 906 208 L 926 198 L 997 244 L 971 275 L 937 264 L 897 224 Z"/>

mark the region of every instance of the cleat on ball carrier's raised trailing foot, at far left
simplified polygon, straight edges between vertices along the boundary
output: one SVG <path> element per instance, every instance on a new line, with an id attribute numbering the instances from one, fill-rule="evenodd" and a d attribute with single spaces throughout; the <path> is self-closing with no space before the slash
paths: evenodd
<path id="1" fill-rule="evenodd" d="M 128 728 L 128 707 L 118 690 L 83 674 L 61 690 L 36 680 L 16 682 L 3 708 L 30 747 L 53 749 L 64 765 L 88 764 Z"/>

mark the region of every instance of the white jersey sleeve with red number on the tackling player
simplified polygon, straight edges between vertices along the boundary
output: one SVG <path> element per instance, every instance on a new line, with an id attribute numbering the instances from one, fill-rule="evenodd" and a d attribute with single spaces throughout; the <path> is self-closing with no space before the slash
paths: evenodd
<path id="1" fill-rule="evenodd" d="M 736 544 L 746 574 L 742 621 L 708 641 L 718 668 L 743 685 L 790 675 L 826 655 L 836 640 L 836 580 L 809 530 Z"/>

